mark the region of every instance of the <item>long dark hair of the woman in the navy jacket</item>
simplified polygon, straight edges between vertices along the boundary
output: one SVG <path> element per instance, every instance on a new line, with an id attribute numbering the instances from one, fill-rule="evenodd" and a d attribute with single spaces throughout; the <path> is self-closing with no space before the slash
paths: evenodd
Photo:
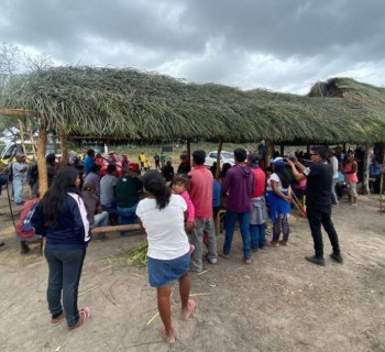
<path id="1" fill-rule="evenodd" d="M 78 176 L 79 172 L 73 166 L 66 166 L 57 173 L 54 183 L 38 204 L 45 227 L 54 228 L 56 226 L 67 193 L 80 195 L 75 185 Z"/>

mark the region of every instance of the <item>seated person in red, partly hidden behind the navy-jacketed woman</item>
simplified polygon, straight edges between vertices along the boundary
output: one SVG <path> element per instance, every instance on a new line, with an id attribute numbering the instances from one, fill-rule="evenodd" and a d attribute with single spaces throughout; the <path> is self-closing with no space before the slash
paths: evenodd
<path id="1" fill-rule="evenodd" d="M 15 235 L 20 239 L 21 254 L 26 254 L 30 252 L 30 248 L 26 242 L 42 240 L 42 235 L 35 233 L 35 229 L 31 224 L 31 218 L 33 216 L 34 209 L 37 207 L 40 198 L 31 199 L 25 201 L 20 219 L 18 220 L 14 229 Z"/>

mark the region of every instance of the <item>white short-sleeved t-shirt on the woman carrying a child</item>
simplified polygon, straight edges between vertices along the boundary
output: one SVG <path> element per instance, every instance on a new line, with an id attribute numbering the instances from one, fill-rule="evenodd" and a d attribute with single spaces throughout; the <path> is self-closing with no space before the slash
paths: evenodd
<path id="1" fill-rule="evenodd" d="M 139 202 L 136 215 L 147 233 L 147 255 L 156 260 L 174 260 L 189 251 L 185 231 L 186 201 L 179 195 L 172 195 L 166 208 L 156 208 L 155 199 Z"/>

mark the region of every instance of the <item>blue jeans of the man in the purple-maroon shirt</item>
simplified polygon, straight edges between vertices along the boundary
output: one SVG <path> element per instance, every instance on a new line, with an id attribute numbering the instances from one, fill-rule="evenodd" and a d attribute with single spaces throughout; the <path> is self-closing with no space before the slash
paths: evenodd
<path id="1" fill-rule="evenodd" d="M 223 244 L 223 254 L 230 254 L 232 238 L 234 235 L 234 228 L 237 218 L 240 222 L 240 230 L 243 242 L 243 257 L 244 260 L 251 258 L 251 250 L 250 250 L 250 212 L 235 212 L 235 211 L 227 211 L 226 213 L 226 235 L 224 235 L 224 244 Z"/>

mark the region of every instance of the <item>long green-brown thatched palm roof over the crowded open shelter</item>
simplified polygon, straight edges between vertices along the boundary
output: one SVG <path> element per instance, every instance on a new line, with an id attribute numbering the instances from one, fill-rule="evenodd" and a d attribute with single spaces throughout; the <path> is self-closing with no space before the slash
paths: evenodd
<path id="1" fill-rule="evenodd" d="M 131 68 L 18 75 L 0 108 L 33 110 L 50 130 L 101 139 L 376 142 L 385 131 L 372 108 L 346 99 L 241 91 Z"/>

